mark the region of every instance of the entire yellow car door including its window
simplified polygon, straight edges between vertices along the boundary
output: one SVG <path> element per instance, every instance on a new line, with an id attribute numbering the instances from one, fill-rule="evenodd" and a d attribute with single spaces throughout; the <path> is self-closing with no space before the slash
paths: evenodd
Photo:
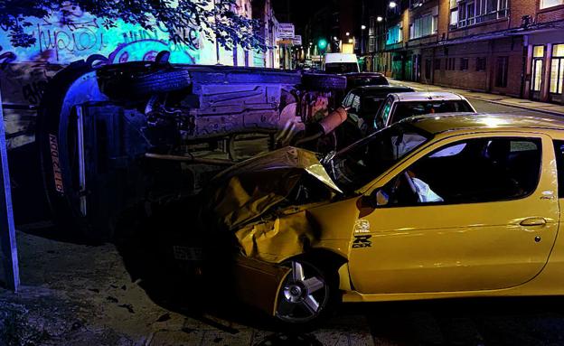
<path id="1" fill-rule="evenodd" d="M 556 182 L 548 136 L 474 134 L 430 145 L 367 192 L 373 204 L 356 221 L 350 255 L 355 289 L 475 291 L 531 280 L 557 235 Z"/>

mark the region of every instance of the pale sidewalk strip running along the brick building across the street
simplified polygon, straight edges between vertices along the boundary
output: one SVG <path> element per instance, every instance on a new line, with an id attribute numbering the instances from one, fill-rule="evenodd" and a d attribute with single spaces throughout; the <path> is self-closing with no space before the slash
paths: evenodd
<path id="1" fill-rule="evenodd" d="M 564 117 L 564 106 L 555 105 L 555 104 L 552 104 L 552 103 L 531 101 L 530 99 L 524 99 L 524 98 L 511 98 L 511 97 L 508 97 L 508 96 L 497 95 L 497 94 L 488 94 L 488 93 L 485 93 L 485 92 L 478 92 L 478 91 L 472 91 L 472 90 L 467 90 L 467 89 L 456 89 L 456 88 L 450 88 L 450 87 L 440 87 L 440 86 L 437 86 L 437 85 L 427 85 L 427 84 L 418 83 L 418 82 L 414 82 L 414 81 L 397 80 L 397 79 L 391 79 L 391 78 L 388 78 L 388 79 L 390 80 L 391 84 L 405 85 L 405 86 L 411 87 L 413 89 L 416 89 L 417 91 L 428 90 L 428 91 L 456 92 L 456 94 L 460 94 L 460 95 L 464 96 L 465 98 L 477 98 L 477 99 L 484 100 L 486 102 L 496 103 L 496 104 L 503 105 L 503 106 L 522 108 L 522 109 L 531 109 L 531 110 L 534 110 L 534 111 L 537 111 L 537 112 L 543 112 L 543 113 L 548 113 L 548 114 L 551 114 L 551 115 L 554 115 L 554 116 Z"/>

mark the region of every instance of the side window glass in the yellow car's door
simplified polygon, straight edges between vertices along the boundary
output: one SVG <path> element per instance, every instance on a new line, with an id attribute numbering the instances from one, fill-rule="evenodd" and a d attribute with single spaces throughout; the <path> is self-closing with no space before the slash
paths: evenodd
<path id="1" fill-rule="evenodd" d="M 559 150 L 564 161 L 564 142 Z M 382 192 L 388 205 L 519 199 L 534 192 L 539 183 L 541 153 L 537 138 L 456 142 L 419 159 Z"/>

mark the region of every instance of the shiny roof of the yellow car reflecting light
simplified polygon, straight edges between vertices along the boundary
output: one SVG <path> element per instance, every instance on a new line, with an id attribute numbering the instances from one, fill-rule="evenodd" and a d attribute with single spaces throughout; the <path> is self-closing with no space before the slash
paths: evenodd
<path id="1" fill-rule="evenodd" d="M 559 117 L 522 116 L 495 113 L 437 113 L 408 117 L 400 121 L 437 135 L 458 130 L 498 130 L 508 128 L 564 130 Z"/>

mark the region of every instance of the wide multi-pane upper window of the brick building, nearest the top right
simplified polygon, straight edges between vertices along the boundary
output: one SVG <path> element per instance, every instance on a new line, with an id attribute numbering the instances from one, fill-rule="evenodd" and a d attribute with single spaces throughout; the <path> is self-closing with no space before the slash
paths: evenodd
<path id="1" fill-rule="evenodd" d="M 465 27 L 476 23 L 504 18 L 508 14 L 507 1 L 508 0 L 463 0 L 459 2 L 456 14 L 453 14 L 455 10 L 451 10 L 451 25 Z M 455 19 L 453 15 L 456 16 L 457 23 L 453 23 L 453 19 Z"/>

